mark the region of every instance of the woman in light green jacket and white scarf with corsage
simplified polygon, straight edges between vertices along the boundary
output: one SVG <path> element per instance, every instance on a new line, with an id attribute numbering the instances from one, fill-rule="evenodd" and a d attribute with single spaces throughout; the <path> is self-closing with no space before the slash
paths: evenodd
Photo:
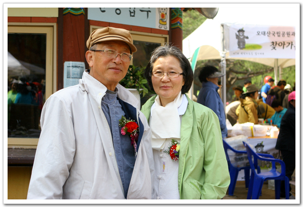
<path id="1" fill-rule="evenodd" d="M 179 48 L 160 46 L 144 76 L 157 93 L 141 109 L 152 133 L 157 199 L 221 199 L 230 177 L 219 119 L 185 95 L 190 63 Z"/>

